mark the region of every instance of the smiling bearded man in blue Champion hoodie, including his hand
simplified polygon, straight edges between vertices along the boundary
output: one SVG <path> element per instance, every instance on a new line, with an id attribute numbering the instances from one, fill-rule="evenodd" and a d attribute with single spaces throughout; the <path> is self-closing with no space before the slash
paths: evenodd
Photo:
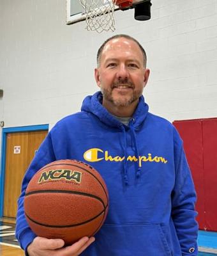
<path id="1" fill-rule="evenodd" d="M 22 248 L 30 256 L 197 255 L 196 195 L 183 143 L 172 124 L 148 112 L 142 96 L 146 52 L 134 38 L 116 35 L 100 47 L 97 61 L 101 92 L 54 126 L 24 177 L 16 230 Z M 23 209 L 31 177 L 58 159 L 91 163 L 110 197 L 95 238 L 66 248 L 61 239 L 36 237 Z"/>

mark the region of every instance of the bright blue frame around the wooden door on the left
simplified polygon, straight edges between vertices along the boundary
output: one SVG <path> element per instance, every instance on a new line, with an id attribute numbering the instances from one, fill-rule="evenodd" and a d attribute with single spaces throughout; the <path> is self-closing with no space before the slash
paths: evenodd
<path id="1" fill-rule="evenodd" d="M 20 127 L 8 127 L 2 129 L 1 140 L 1 169 L 0 169 L 0 218 L 3 217 L 4 210 L 4 181 L 6 164 L 6 136 L 11 132 L 31 132 L 31 131 L 49 131 L 49 124 L 28 125 Z"/>

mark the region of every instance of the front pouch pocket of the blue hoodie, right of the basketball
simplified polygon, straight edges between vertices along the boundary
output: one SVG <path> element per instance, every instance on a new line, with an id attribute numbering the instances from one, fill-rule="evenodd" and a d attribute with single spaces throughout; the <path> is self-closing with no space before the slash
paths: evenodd
<path id="1" fill-rule="evenodd" d="M 95 237 L 92 254 L 87 255 L 172 256 L 159 223 L 105 224 Z"/>

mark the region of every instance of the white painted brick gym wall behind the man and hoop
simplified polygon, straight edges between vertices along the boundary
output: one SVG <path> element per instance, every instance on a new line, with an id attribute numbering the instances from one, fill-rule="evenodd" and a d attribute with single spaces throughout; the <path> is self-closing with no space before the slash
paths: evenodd
<path id="1" fill-rule="evenodd" d="M 152 19 L 116 12 L 115 33 L 66 26 L 64 0 L 1 0 L 0 120 L 5 127 L 50 124 L 79 111 L 98 90 L 96 52 L 116 33 L 147 51 L 150 110 L 171 122 L 217 116 L 217 1 L 153 0 Z M 1 140 L 1 136 L 0 136 Z M 1 141 L 0 141 L 1 143 Z"/>

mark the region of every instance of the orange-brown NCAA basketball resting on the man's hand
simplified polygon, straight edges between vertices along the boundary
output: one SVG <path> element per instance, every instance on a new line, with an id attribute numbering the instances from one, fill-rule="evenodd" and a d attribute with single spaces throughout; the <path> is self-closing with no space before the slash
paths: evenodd
<path id="1" fill-rule="evenodd" d="M 61 238 L 70 245 L 93 236 L 103 225 L 108 212 L 107 187 L 89 164 L 54 161 L 30 180 L 24 211 L 37 236 Z"/>

